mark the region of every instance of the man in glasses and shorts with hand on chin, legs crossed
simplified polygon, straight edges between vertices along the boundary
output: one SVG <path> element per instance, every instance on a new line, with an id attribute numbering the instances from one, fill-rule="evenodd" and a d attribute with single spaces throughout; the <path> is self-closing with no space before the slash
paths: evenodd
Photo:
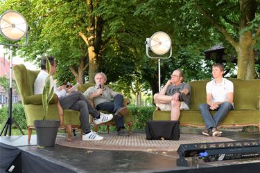
<path id="1" fill-rule="evenodd" d="M 159 109 L 171 111 L 171 120 L 179 119 L 180 110 L 189 110 L 191 86 L 183 81 L 183 72 L 177 69 L 171 74 L 171 80 L 168 80 L 162 90 L 153 96 Z"/>

